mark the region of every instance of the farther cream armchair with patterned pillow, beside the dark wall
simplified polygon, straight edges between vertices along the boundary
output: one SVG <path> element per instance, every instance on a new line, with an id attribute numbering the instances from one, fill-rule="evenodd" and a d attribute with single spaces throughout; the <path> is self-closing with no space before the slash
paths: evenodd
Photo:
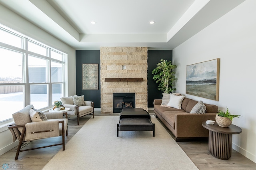
<path id="1" fill-rule="evenodd" d="M 77 115 L 77 125 L 79 125 L 80 117 L 90 114 L 94 118 L 94 103 L 92 101 L 84 101 L 84 95 L 62 97 L 60 100 L 64 107 L 70 108 L 67 111 L 68 115 Z"/>

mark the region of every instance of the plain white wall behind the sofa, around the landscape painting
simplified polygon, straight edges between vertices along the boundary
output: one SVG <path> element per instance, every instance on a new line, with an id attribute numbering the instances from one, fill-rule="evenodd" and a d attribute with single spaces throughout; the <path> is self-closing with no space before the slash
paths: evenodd
<path id="1" fill-rule="evenodd" d="M 220 58 L 219 101 L 186 97 L 218 105 L 234 115 L 242 128 L 233 135 L 232 148 L 256 162 L 256 1 L 246 0 L 222 18 L 173 50 L 177 65 L 176 92 L 186 93 L 186 65 Z"/>

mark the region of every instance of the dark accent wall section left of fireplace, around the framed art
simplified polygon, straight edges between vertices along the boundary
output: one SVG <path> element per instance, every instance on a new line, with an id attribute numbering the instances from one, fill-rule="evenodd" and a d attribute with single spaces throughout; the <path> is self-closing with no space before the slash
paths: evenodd
<path id="1" fill-rule="evenodd" d="M 82 64 L 98 63 L 98 90 L 82 90 Z M 100 50 L 76 50 L 76 94 L 100 108 Z"/>

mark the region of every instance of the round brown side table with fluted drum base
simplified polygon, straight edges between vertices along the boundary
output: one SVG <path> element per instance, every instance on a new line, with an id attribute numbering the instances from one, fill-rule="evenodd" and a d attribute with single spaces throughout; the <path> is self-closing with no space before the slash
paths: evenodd
<path id="1" fill-rule="evenodd" d="M 202 122 L 202 126 L 209 130 L 209 152 L 212 156 L 227 160 L 232 152 L 232 134 L 239 134 L 242 129 L 236 125 L 227 128 L 220 127 L 216 122 L 208 125 Z"/>

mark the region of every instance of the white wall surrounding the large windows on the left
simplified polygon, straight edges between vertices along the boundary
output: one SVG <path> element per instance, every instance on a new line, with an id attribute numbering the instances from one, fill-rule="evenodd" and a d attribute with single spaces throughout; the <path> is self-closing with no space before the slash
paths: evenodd
<path id="1" fill-rule="evenodd" d="M 46 45 L 54 47 L 64 53 L 67 53 L 65 58 L 67 69 L 65 70 L 65 81 L 66 83 L 65 91 L 66 96 L 76 94 L 76 50 L 72 47 L 66 45 L 65 43 L 57 40 L 50 34 L 41 30 L 34 24 L 28 22 L 24 18 L 21 18 L 14 12 L 8 10 L 4 6 L 0 5 L 0 23 L 12 28 L 26 36 L 29 36 L 35 40 L 38 40 Z M 70 88 L 68 88 L 70 87 Z M 4 113 L 0 113 L 4 114 Z M 7 126 L 10 125 L 9 122 L 0 123 L 0 155 L 4 154 L 8 150 L 17 146 L 17 143 L 12 143 L 12 135 L 8 130 Z"/>

